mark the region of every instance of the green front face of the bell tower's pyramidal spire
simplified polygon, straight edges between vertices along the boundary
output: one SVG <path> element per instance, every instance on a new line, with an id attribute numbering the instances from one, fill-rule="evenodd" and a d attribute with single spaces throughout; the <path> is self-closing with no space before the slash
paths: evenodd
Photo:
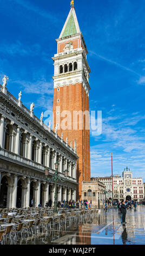
<path id="1" fill-rule="evenodd" d="M 77 30 L 76 30 L 75 20 L 74 20 L 73 13 L 71 13 L 68 23 L 67 23 L 67 26 L 65 27 L 64 32 L 62 34 L 62 38 L 64 36 L 73 35 L 76 33 L 77 33 Z"/>

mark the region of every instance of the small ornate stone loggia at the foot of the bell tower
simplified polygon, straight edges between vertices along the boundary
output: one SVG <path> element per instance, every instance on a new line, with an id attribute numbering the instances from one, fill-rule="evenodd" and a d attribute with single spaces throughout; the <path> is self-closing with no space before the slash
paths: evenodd
<path id="1" fill-rule="evenodd" d="M 88 200 L 92 202 L 93 205 L 103 204 L 103 200 L 106 199 L 106 186 L 98 179 L 91 179 L 90 181 L 82 182 L 82 200 Z"/>

